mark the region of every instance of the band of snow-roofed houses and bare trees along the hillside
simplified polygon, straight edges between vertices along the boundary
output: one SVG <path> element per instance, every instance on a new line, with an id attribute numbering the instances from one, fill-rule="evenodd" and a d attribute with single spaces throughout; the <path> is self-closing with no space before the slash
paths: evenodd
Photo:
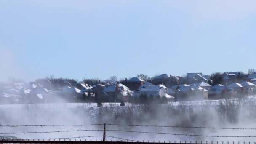
<path id="1" fill-rule="evenodd" d="M 143 75 L 142 75 L 143 76 Z M 39 79 L 29 84 L 1 84 L 0 103 L 67 102 L 140 102 L 147 99 L 162 102 L 223 99 L 256 94 L 256 73 L 224 72 L 221 75 L 187 73 L 185 77 L 161 74 L 144 77 L 100 81 L 95 85 L 70 80 Z M 212 80 L 213 79 L 213 80 Z M 55 80 L 55 81 L 54 81 Z M 54 86 L 55 84 L 55 86 Z M 57 85 L 57 86 L 56 86 Z"/>

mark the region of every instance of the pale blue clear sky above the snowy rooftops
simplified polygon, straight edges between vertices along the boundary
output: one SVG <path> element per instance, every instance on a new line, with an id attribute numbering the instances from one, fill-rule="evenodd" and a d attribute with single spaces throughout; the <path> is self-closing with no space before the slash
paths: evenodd
<path id="1" fill-rule="evenodd" d="M 255 0 L 1 0 L 0 80 L 255 67 Z"/>

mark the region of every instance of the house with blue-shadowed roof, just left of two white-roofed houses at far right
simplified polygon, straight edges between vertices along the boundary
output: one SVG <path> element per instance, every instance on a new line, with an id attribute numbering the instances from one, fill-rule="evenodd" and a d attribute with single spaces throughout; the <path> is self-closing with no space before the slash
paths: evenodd
<path id="1" fill-rule="evenodd" d="M 211 87 L 211 89 L 208 92 L 208 98 L 209 99 L 221 99 L 224 97 L 229 97 L 229 92 L 230 90 L 221 84 L 214 85 Z"/>

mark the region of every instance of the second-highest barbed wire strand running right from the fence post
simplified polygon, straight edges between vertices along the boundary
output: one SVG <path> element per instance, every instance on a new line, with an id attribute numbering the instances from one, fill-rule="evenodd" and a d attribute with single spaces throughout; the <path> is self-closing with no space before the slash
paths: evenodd
<path id="1" fill-rule="evenodd" d="M 155 132 L 145 132 L 145 131 L 123 131 L 123 130 L 106 130 L 106 131 L 118 131 L 118 132 L 128 132 L 128 133 L 150 133 L 150 134 L 163 134 L 163 135 L 174 135 L 174 136 L 198 136 L 198 137 L 256 137 L 256 136 L 208 136 L 208 135 L 192 135 L 192 134 L 179 134 L 179 133 L 155 133 Z"/>

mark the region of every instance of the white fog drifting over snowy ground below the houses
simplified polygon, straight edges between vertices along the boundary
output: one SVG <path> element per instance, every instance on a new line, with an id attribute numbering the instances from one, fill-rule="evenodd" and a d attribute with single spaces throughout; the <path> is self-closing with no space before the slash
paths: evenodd
<path id="1" fill-rule="evenodd" d="M 243 99 L 205 100 L 194 102 L 171 102 L 162 105 L 104 103 L 103 107 L 87 103 L 62 104 L 16 104 L 0 106 L 2 125 L 168 125 L 213 128 L 171 128 L 146 126 L 107 125 L 106 135 L 135 141 L 255 141 L 254 137 L 206 137 L 206 136 L 254 136 L 256 130 L 216 128 L 256 128 L 256 107 L 253 97 Z M 103 130 L 95 126 L 42 126 L 42 127 L 0 127 L 1 133 L 46 132 L 72 130 Z M 108 131 L 117 130 L 117 131 Z M 150 133 L 134 133 L 121 131 Z M 152 132 L 152 133 L 151 133 Z M 154 133 L 154 134 L 153 134 Z M 156 133 L 172 133 L 181 136 Z M 2 134 L 6 135 L 6 134 Z M 8 134 L 21 139 L 70 138 L 79 136 L 102 136 L 103 131 L 80 131 L 59 133 Z M 203 137 L 202 137 L 203 135 Z M 77 140 L 102 140 L 102 137 L 77 138 Z M 107 137 L 107 140 L 116 140 Z M 120 140 L 120 139 L 119 139 Z"/>

